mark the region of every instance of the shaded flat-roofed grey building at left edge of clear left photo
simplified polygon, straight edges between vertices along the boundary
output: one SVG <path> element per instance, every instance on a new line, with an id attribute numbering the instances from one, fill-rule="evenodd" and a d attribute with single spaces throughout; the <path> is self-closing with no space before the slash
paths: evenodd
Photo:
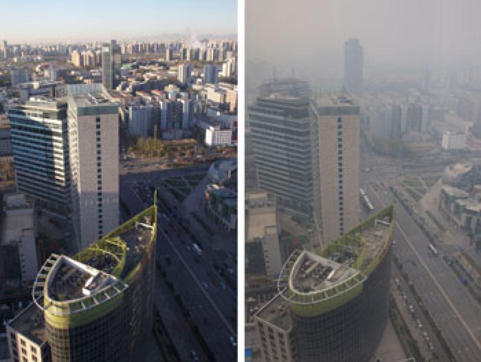
<path id="1" fill-rule="evenodd" d="M 2 245 L 18 247 L 22 281 L 33 281 L 38 271 L 34 202 L 23 194 L 6 194 L 3 211 Z"/>

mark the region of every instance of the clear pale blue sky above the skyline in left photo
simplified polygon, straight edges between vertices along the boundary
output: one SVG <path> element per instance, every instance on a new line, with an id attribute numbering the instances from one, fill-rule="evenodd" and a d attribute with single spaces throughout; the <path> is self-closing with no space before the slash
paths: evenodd
<path id="1" fill-rule="evenodd" d="M 236 0 L 8 0 L 0 38 L 10 43 L 236 34 Z"/>

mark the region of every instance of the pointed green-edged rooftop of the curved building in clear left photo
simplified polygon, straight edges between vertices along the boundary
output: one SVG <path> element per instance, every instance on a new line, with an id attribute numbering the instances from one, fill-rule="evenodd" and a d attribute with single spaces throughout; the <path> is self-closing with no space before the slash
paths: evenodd
<path id="1" fill-rule="evenodd" d="M 151 245 L 155 219 L 152 206 L 74 258 L 51 255 L 35 280 L 34 301 L 44 296 L 47 303 L 40 308 L 66 315 L 95 307 L 121 293 Z"/>

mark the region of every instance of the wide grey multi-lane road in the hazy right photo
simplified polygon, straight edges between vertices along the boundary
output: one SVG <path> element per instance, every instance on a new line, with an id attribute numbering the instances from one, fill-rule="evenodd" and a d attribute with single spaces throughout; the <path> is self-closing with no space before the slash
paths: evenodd
<path id="1" fill-rule="evenodd" d="M 375 209 L 392 203 L 393 195 L 387 187 L 393 184 L 397 171 L 398 168 L 391 164 L 379 172 L 363 176 L 363 186 Z M 376 186 L 373 188 L 373 185 Z M 477 301 L 442 256 L 432 254 L 428 238 L 399 204 L 396 207 L 394 239 L 397 242 L 394 255 L 414 283 L 455 358 L 466 362 L 478 361 L 481 353 L 481 309 Z"/>

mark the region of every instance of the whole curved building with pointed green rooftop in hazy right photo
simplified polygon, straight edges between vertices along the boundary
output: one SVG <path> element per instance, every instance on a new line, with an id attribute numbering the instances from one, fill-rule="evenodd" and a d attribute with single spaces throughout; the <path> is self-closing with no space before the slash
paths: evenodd
<path id="1" fill-rule="evenodd" d="M 393 229 L 391 205 L 316 253 L 291 254 L 279 294 L 254 316 L 263 360 L 372 360 L 389 317 Z"/>

